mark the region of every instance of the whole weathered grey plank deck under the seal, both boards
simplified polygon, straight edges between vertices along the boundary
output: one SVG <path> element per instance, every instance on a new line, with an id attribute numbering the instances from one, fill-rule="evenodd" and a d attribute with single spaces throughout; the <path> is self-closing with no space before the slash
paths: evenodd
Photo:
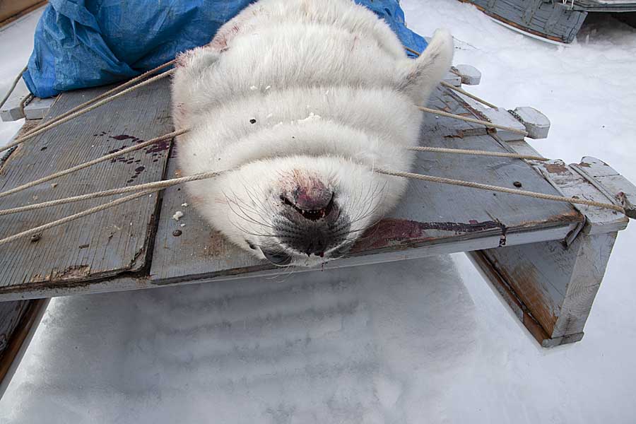
<path id="1" fill-rule="evenodd" d="M 98 90 L 92 90 L 83 93 L 94 95 L 97 92 Z M 52 113 L 66 110 L 80 101 L 77 99 L 77 102 L 70 102 L 65 97 L 58 101 Z M 168 97 L 167 85 L 153 86 L 148 92 L 141 91 L 132 98 L 124 97 L 127 99 L 125 103 L 115 102 L 109 110 L 88 114 L 82 121 L 82 129 L 71 126 L 71 131 L 68 127 L 61 126 L 60 129 L 66 128 L 66 131 L 58 133 L 54 130 L 47 134 L 47 139 L 35 139 L 34 143 L 25 146 L 35 157 L 25 155 L 21 150 L 16 151 L 6 164 L 6 170 L 3 170 L 4 174 L 1 176 L 4 179 L 0 180 L 0 184 L 4 184 L 4 187 L 0 185 L 0 189 L 13 187 L 53 171 L 45 172 L 40 160 L 46 160 L 55 169 L 61 169 L 78 163 L 80 156 L 76 151 L 81 149 L 85 152 L 85 159 L 90 159 L 124 145 L 124 141 L 117 146 L 108 143 L 114 139 L 108 139 L 107 136 L 124 138 L 130 135 L 147 139 L 165 134 L 170 131 Z M 431 103 L 432 107 L 447 112 L 484 118 L 483 114 L 449 90 L 437 90 Z M 150 104 L 153 107 L 149 107 Z M 136 110 L 145 115 L 135 115 Z M 129 120 L 122 123 L 122 117 L 134 119 L 131 119 L 133 122 Z M 110 133 L 102 134 L 106 131 L 102 126 L 107 126 Z M 73 136 L 73 131 L 76 136 Z M 90 144 L 78 141 L 81 140 L 79 135 L 83 135 L 86 140 L 86 134 L 89 134 Z M 492 151 L 512 150 L 491 134 L 490 130 L 478 124 L 425 114 L 421 144 Z M 65 149 L 66 156 L 49 147 L 53 143 L 59 143 L 61 139 L 69 139 L 71 143 L 75 143 L 71 150 Z M 41 151 L 45 145 L 47 149 Z M 86 157 L 86 152 L 93 152 L 88 146 L 94 146 L 90 149 L 98 152 Z M 54 153 L 47 153 L 42 159 L 37 158 L 37 155 L 48 151 Z M 67 158 L 69 151 L 73 152 L 73 158 Z M 178 146 L 175 146 L 172 155 L 178 153 Z M 146 170 L 139 174 L 136 182 L 161 179 L 166 154 L 167 145 L 151 149 L 151 153 L 141 151 L 134 157 L 124 158 L 116 163 L 89 168 L 83 175 L 60 179 L 56 187 L 43 184 L 24 192 L 21 199 L 7 197 L 13 203 L 6 206 L 4 199 L 0 199 L 0 204 L 3 208 L 11 207 L 35 201 L 33 196 L 38 196 L 37 201 L 44 201 L 130 184 L 132 178 L 126 172 L 134 171 L 142 165 Z M 64 160 L 67 163 L 61 166 L 60 162 Z M 135 160 L 141 162 L 135 163 Z M 24 168 L 29 165 L 30 169 Z M 165 177 L 175 177 L 178 174 L 176 160 L 170 160 L 167 166 Z M 13 172 L 8 172 L 9 170 Z M 505 187 L 514 187 L 515 182 L 520 182 L 522 188 L 527 190 L 556 193 L 546 179 L 529 164 L 518 159 L 418 153 L 415 171 Z M 7 182 L 8 179 L 11 179 L 11 184 Z M 73 184 L 76 180 L 82 184 Z M 59 189 L 65 191 L 61 192 Z M 192 206 L 182 206 L 189 203 L 183 187 L 171 187 L 165 190 L 162 197 L 160 213 L 155 220 L 153 213 L 157 204 L 153 197 L 133 201 L 126 204 L 126 207 L 113 208 L 98 216 L 49 230 L 35 243 L 22 240 L 9 245 L 9 249 L 4 247 L 11 254 L 0 259 L 7 264 L 4 267 L 3 280 L 6 283 L 0 285 L 0 299 L 96 293 L 288 272 L 276 269 L 269 262 L 254 259 L 227 242 L 199 217 Z M 60 210 L 61 207 L 52 208 L 47 213 L 31 213 L 29 216 L 2 217 L 0 228 L 5 234 L 11 234 L 105 201 L 107 199 L 81 202 L 66 206 L 64 210 Z M 172 219 L 176 211 L 184 213 L 178 222 Z M 131 219 L 133 216 L 140 218 Z M 7 223 L 6 218 L 11 220 Z M 333 261 L 325 267 L 371 264 L 428 254 L 563 240 L 583 220 L 583 216 L 567 204 L 479 192 L 463 187 L 411 182 L 402 204 L 391 216 L 370 230 L 369 237 L 352 249 L 350 258 Z M 124 228 L 121 223 L 128 227 Z M 11 228 L 9 232 L 7 228 L 11 225 L 17 225 L 17 228 Z M 153 240 L 154 225 L 157 227 L 152 263 L 148 264 L 147 242 Z M 83 232 L 88 235 L 83 235 Z M 109 240 L 111 233 L 112 239 Z M 55 246 L 53 242 L 56 243 Z M 38 257 L 36 252 L 42 252 L 42 256 Z"/>

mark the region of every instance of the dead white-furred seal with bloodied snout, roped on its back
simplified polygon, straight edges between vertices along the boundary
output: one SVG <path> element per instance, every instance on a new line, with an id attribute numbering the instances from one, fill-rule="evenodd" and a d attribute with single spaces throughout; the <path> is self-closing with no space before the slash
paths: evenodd
<path id="1" fill-rule="evenodd" d="M 179 55 L 172 84 L 182 175 L 214 228 L 261 259 L 312 266 L 346 253 L 393 208 L 422 105 L 451 65 L 435 32 L 408 59 L 389 26 L 349 0 L 261 0 Z"/>

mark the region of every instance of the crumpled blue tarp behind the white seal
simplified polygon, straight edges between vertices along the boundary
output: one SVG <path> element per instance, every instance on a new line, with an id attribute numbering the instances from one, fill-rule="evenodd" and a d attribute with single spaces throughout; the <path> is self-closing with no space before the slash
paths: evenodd
<path id="1" fill-rule="evenodd" d="M 205 45 L 250 0 L 49 0 L 35 29 L 24 81 L 40 98 L 122 81 Z M 421 52 L 399 0 L 356 0 Z"/>

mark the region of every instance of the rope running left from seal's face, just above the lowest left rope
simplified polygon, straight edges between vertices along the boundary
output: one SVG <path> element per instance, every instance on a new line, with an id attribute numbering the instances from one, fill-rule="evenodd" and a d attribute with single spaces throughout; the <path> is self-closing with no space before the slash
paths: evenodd
<path id="1" fill-rule="evenodd" d="M 136 184 L 129 187 L 120 187 L 119 189 L 104 190 L 103 192 L 88 193 L 88 194 L 82 194 L 81 196 L 73 196 L 73 197 L 66 197 L 64 199 L 45 201 L 39 204 L 20 206 L 18 208 L 4 209 L 4 210 L 0 210 L 0 216 L 10 215 L 11 213 L 33 211 L 34 209 L 48 208 L 50 206 L 69 204 L 75 201 L 97 199 L 98 197 L 114 196 L 115 194 L 137 192 L 139 190 L 145 190 L 145 189 L 165 189 L 166 187 L 172 187 L 173 185 L 183 184 L 184 182 L 199 181 L 199 179 L 218 177 L 219 175 L 223 174 L 223 172 L 224 171 L 201 172 L 200 174 L 190 175 L 189 177 L 164 179 L 162 181 L 147 182 L 144 184 Z"/>

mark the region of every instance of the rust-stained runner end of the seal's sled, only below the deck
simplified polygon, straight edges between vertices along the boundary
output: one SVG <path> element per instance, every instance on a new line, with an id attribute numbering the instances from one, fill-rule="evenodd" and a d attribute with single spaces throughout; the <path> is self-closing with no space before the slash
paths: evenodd
<path id="1" fill-rule="evenodd" d="M 581 234 L 568 247 L 550 241 L 481 254 L 541 325 L 547 340 L 583 332 L 615 241 L 616 232 Z"/>

